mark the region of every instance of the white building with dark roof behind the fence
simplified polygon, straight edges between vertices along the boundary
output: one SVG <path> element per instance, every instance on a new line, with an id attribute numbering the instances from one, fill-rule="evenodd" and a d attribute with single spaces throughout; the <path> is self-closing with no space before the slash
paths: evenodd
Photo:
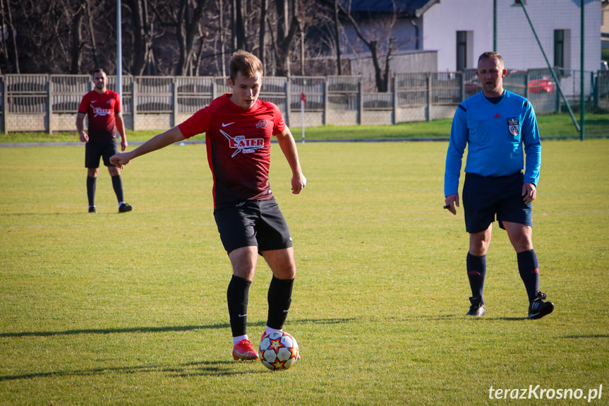
<path id="1" fill-rule="evenodd" d="M 358 16 L 363 31 L 368 28 L 368 33 L 378 32 L 379 21 L 397 13 L 390 33 L 397 48 L 395 54 L 435 51 L 437 71 L 476 68 L 478 56 L 492 50 L 502 54 L 506 68 L 510 69 L 547 68 L 548 64 L 572 70 L 581 68 L 581 0 L 351 0 L 350 3 L 351 11 Z M 583 3 L 584 70 L 598 71 L 603 24 L 601 0 Z M 349 23 L 344 25 L 353 49 L 358 40 Z M 367 49 L 361 47 L 361 52 L 366 54 Z M 370 76 L 362 56 L 358 59 L 360 71 L 353 73 Z M 390 66 L 393 73 L 411 69 L 411 64 L 403 61 L 392 62 Z"/>

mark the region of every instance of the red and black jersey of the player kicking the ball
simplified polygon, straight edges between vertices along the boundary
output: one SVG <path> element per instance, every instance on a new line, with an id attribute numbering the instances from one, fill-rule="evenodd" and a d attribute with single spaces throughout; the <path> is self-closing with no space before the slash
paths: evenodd
<path id="1" fill-rule="evenodd" d="M 205 133 L 215 207 L 273 197 L 269 184 L 271 137 L 286 126 L 273 103 L 258 99 L 251 109 L 244 110 L 230 97 L 217 97 L 179 125 L 186 138 Z"/>

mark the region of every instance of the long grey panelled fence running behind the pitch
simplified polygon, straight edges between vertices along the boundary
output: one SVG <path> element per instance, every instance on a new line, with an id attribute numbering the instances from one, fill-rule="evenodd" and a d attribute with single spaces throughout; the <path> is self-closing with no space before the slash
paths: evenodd
<path id="1" fill-rule="evenodd" d="M 579 71 L 509 71 L 507 90 L 528 97 L 538 114 L 560 111 L 579 101 Z M 607 72 L 587 72 L 584 97 L 593 107 L 609 107 Z M 0 76 L 0 131 L 75 131 L 83 95 L 93 89 L 86 75 Z M 108 88 L 116 91 L 116 76 Z M 274 102 L 290 126 L 396 124 L 452 118 L 462 100 L 481 90 L 474 70 L 397 73 L 390 92 L 363 92 L 359 76 L 265 77 L 260 98 Z M 181 123 L 225 92 L 223 77 L 123 76 L 122 112 L 127 129 L 164 130 Z M 305 95 L 301 112 L 301 96 Z"/>

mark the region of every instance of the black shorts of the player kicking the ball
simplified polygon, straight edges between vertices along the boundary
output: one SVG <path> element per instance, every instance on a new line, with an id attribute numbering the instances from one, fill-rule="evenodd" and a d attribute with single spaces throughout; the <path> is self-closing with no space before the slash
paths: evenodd
<path id="1" fill-rule="evenodd" d="M 216 208 L 214 217 L 227 253 L 243 246 L 258 246 L 258 252 L 292 246 L 287 222 L 275 198 Z"/>

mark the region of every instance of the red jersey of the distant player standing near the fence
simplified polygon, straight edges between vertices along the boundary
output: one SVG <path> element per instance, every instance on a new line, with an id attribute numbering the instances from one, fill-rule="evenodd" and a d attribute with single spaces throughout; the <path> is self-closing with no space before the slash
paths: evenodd
<path id="1" fill-rule="evenodd" d="M 87 114 L 91 140 L 116 138 L 115 114 L 121 112 L 121 99 L 116 92 L 106 90 L 98 93 L 91 90 L 80 101 L 78 112 Z"/>

